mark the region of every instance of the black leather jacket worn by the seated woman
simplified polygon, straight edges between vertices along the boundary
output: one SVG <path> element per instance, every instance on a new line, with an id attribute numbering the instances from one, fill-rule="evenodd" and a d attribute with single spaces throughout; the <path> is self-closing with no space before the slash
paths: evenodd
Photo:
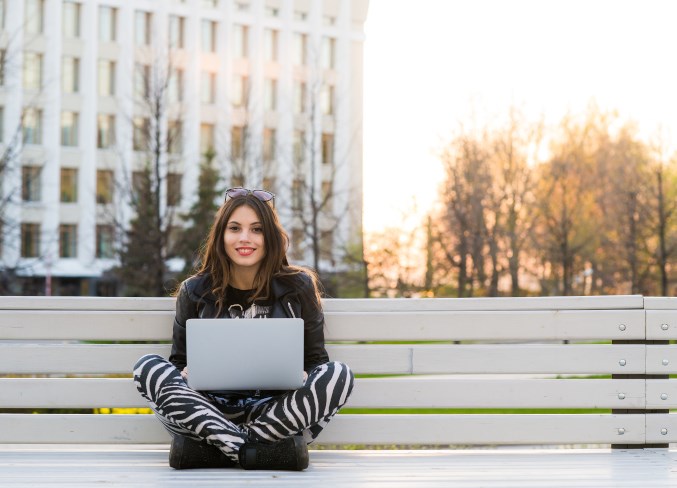
<path id="1" fill-rule="evenodd" d="M 317 303 L 310 278 L 299 273 L 273 278 L 271 283 L 271 318 L 302 318 L 304 322 L 303 369 L 310 372 L 315 366 L 329 361 L 324 347 L 324 313 Z M 222 310 L 218 317 L 229 317 Z M 216 299 L 210 291 L 207 276 L 193 276 L 181 285 L 176 297 L 176 316 L 172 353 L 169 361 L 181 371 L 186 366 L 186 321 L 193 318 L 217 318 Z M 224 344 L 227 348 L 228 344 Z"/>

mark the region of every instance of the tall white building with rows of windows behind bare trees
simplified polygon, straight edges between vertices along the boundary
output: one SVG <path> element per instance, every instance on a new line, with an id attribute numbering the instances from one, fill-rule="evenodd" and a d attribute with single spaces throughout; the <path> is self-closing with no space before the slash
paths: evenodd
<path id="1" fill-rule="evenodd" d="M 224 188 L 244 176 L 247 187 L 277 194 L 293 257 L 312 263 L 293 211 L 303 198 L 294 168 L 303 168 L 304 178 L 316 175 L 319 198 L 333 191 L 322 267 L 340 268 L 341 249 L 361 236 L 367 8 L 368 0 L 0 0 L 0 143 L 9 154 L 0 266 L 23 277 L 13 291 L 111 293 L 101 280 L 115 264 L 110 213 L 129 217 L 118 189 L 143 160 L 135 94 L 158 66 L 172 74 L 167 117 L 181 114 L 182 135 L 163 201 L 177 213 L 190 208 L 212 147 Z M 242 175 L 234 160 L 246 161 Z"/>

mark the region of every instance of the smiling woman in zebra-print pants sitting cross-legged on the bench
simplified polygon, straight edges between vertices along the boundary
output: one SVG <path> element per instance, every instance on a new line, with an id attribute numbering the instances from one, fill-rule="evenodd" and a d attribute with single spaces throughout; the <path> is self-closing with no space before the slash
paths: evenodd
<path id="1" fill-rule="evenodd" d="M 173 436 L 173 468 L 305 469 L 307 444 L 352 391 L 352 372 L 329 362 L 324 347 L 314 273 L 287 264 L 288 237 L 274 198 L 264 190 L 226 192 L 201 267 L 179 289 L 169 361 L 147 355 L 134 367 L 137 389 Z M 281 392 L 192 390 L 186 382 L 186 321 L 214 317 L 302 318 L 304 385 Z M 223 345 L 224 354 L 229 347 Z"/>

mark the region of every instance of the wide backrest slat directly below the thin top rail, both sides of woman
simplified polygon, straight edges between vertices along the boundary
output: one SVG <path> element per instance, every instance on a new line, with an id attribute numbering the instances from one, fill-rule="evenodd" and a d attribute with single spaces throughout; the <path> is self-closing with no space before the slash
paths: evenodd
<path id="1" fill-rule="evenodd" d="M 0 339 L 170 340 L 171 311 L 0 311 Z M 326 314 L 328 341 L 636 340 L 643 310 Z"/>

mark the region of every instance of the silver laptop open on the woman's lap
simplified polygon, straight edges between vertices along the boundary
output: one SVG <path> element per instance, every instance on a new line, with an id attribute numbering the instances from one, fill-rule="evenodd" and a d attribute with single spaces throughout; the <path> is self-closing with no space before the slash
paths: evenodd
<path id="1" fill-rule="evenodd" d="M 195 390 L 289 390 L 303 385 L 303 319 L 189 319 Z"/>

